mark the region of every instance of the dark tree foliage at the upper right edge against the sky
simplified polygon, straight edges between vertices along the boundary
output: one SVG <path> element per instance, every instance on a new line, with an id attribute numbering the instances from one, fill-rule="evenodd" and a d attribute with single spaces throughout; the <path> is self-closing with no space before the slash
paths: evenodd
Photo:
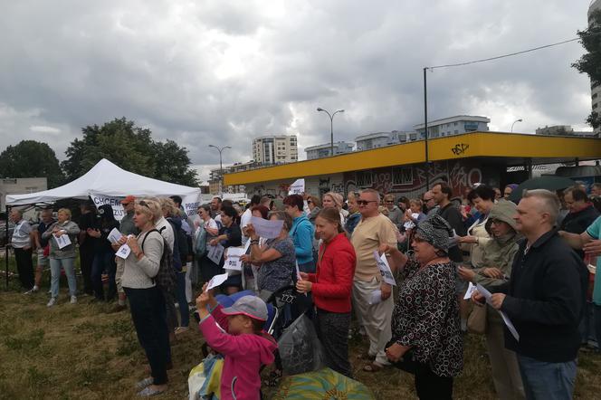
<path id="1" fill-rule="evenodd" d="M 591 88 L 601 85 L 601 10 L 590 14 L 588 29 L 578 31 L 580 43 L 587 53 L 572 63 L 580 73 L 587 73 L 590 78 Z M 587 117 L 587 123 L 593 128 L 601 126 L 601 117 L 596 111 Z"/>

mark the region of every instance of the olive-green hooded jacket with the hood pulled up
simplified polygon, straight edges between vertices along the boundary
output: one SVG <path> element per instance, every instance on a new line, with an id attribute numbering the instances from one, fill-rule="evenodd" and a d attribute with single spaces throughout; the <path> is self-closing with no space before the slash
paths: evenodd
<path id="1" fill-rule="evenodd" d="M 482 274 L 484 268 L 498 268 L 503 271 L 505 276 L 510 277 L 511 265 L 513 258 L 518 252 L 520 233 L 516 231 L 516 223 L 513 216 L 516 214 L 516 205 L 506 200 L 501 200 L 494 205 L 489 214 L 486 230 L 491 230 L 492 220 L 501 220 L 510 225 L 512 232 L 501 236 L 494 237 L 491 234 L 492 240 L 486 243 L 483 249 L 482 268 L 474 270 L 476 272 L 473 277 L 474 283 L 480 283 L 484 287 L 497 286 L 506 282 L 505 280 L 492 279 Z"/>

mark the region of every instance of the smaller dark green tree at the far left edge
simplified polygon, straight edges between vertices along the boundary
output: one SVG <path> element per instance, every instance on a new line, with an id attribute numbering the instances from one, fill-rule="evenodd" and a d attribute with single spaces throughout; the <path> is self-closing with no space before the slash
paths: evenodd
<path id="1" fill-rule="evenodd" d="M 59 160 L 47 143 L 22 140 L 0 154 L 0 171 L 5 177 L 46 177 L 48 188 L 64 181 Z"/>

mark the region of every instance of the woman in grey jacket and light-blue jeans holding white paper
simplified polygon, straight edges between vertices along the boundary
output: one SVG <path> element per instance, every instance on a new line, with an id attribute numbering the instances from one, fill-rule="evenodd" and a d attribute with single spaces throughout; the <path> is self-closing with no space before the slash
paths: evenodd
<path id="1" fill-rule="evenodd" d="M 59 296 L 59 281 L 61 280 L 61 268 L 67 275 L 71 303 L 77 302 L 77 279 L 75 278 L 75 243 L 80 227 L 72 222 L 71 210 L 61 208 L 58 212 L 58 221 L 50 225 L 46 232 L 42 233 L 44 240 L 50 240 L 50 273 L 51 273 L 51 299 L 47 306 L 56 304 Z M 62 246 L 59 244 L 62 235 L 69 237 L 70 244 Z"/>

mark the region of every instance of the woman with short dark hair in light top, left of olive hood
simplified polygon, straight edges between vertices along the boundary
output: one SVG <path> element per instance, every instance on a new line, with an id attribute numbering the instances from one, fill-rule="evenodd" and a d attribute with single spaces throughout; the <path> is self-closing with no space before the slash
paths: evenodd
<path id="1" fill-rule="evenodd" d="M 495 193 L 489 186 L 480 185 L 470 192 L 468 201 L 478 211 L 480 216 L 467 230 L 467 236 L 459 239 L 459 243 L 469 245 L 470 260 L 473 268 L 482 267 L 483 248 L 486 243 L 491 241 L 491 235 L 486 231 L 486 222 L 488 221 L 491 209 L 494 206 Z"/>

